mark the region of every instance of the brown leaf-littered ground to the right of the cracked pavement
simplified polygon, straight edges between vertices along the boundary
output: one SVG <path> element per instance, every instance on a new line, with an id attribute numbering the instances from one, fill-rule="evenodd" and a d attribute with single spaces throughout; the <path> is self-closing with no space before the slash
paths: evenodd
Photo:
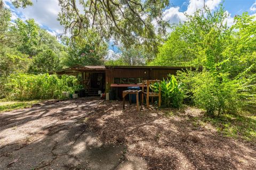
<path id="1" fill-rule="evenodd" d="M 195 129 L 188 110 L 167 109 L 174 112 L 174 116 L 166 117 L 165 109 L 137 112 L 134 106 L 130 108 L 121 111 L 121 107 L 113 103 L 111 110 L 118 111 L 98 112 L 91 115 L 87 123 L 100 135 L 101 141 L 127 144 L 129 152 L 148 160 L 150 169 L 239 169 L 243 166 L 250 169 L 256 166 L 252 143 L 221 136 L 213 129 Z"/>

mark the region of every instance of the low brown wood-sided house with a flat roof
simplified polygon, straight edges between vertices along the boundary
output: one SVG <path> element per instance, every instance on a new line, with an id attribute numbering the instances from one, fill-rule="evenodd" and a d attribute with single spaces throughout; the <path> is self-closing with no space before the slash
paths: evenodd
<path id="1" fill-rule="evenodd" d="M 81 66 L 76 65 L 60 71 L 58 75 L 74 75 L 81 85 L 91 94 L 98 91 L 109 92 L 111 87 L 136 86 L 144 79 L 166 78 L 167 75 L 176 75 L 178 70 L 186 67 L 160 66 Z"/>

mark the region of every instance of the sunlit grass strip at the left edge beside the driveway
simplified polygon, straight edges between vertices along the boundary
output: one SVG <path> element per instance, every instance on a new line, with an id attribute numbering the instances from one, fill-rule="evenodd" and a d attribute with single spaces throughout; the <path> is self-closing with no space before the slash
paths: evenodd
<path id="1" fill-rule="evenodd" d="M 31 107 L 33 104 L 39 103 L 42 100 L 31 100 L 31 101 L 0 101 L 0 112 L 11 111 L 15 109 L 24 109 Z"/>

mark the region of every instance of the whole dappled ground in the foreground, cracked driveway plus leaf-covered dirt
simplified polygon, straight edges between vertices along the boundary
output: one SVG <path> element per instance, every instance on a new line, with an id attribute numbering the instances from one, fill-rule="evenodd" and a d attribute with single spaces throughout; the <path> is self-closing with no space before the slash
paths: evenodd
<path id="1" fill-rule="evenodd" d="M 95 98 L 0 113 L 0 169 L 255 169 L 254 143 L 195 128 L 197 109 Z"/>

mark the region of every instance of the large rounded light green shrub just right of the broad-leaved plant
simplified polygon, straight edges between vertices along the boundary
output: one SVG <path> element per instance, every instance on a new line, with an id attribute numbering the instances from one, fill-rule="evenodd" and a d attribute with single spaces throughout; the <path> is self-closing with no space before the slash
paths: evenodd
<path id="1" fill-rule="evenodd" d="M 179 74 L 186 97 L 207 114 L 234 113 L 242 108 L 241 84 L 231 80 L 228 74 L 203 70 L 202 72 L 183 72 Z"/>

